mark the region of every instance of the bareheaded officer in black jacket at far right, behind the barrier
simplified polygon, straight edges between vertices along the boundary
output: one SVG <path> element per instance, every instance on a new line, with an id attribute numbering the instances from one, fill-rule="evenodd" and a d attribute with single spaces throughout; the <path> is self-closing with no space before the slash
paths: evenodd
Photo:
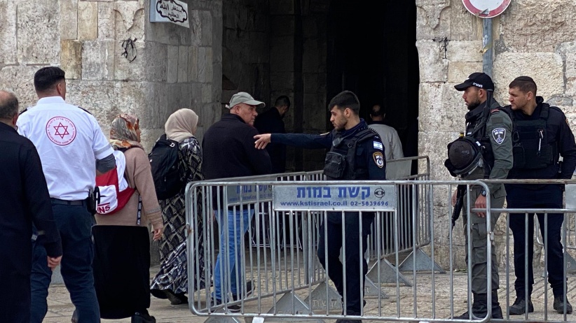
<path id="1" fill-rule="evenodd" d="M 515 78 L 509 85 L 509 110 L 514 121 L 512 142 L 514 144 L 514 167 L 508 178 L 514 179 L 570 179 L 576 168 L 576 143 L 564 113 L 555 106 L 544 103 L 536 96 L 536 83 L 528 76 Z M 563 161 L 559 164 L 559 157 Z M 563 187 L 561 185 L 506 185 L 508 208 L 562 208 Z M 560 242 L 564 216 L 548 213 L 547 234 L 544 214 L 537 213 L 542 237 L 547 236 L 548 282 L 554 294 L 554 310 L 572 313 L 572 306 L 564 294 L 564 256 Z M 526 215 L 510 214 L 510 229 L 514 235 L 514 273 L 516 301 L 508 313 L 520 315 L 533 312 L 530 301 L 534 273 L 534 216 L 528 216 L 528 232 L 525 231 Z M 528 254 L 524 248 L 528 244 Z M 528 290 L 524 271 L 528 259 Z"/>

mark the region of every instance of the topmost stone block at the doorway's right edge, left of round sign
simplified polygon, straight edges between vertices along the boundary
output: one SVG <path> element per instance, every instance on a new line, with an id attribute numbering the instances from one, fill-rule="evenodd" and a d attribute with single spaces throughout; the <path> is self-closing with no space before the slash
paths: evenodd
<path id="1" fill-rule="evenodd" d="M 450 0 L 416 0 L 416 39 L 450 35 Z"/>

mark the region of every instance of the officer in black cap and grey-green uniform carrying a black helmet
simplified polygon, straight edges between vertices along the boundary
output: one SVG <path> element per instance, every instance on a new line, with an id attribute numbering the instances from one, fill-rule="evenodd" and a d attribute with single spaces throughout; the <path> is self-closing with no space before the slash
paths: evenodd
<path id="1" fill-rule="evenodd" d="M 448 145 L 448 159 L 446 167 L 452 175 L 462 180 L 479 179 L 505 179 L 512 168 L 512 120 L 504 111 L 500 111 L 500 105 L 492 98 L 494 83 L 486 73 L 472 73 L 467 80 L 455 85 L 455 89 L 463 91 L 464 99 L 468 107 L 466 113 L 466 132 L 463 138 Z M 467 146 L 468 145 L 468 146 Z M 476 149 L 474 151 L 474 149 Z M 471 150 L 474 154 L 462 154 Z M 472 158 L 469 159 L 469 156 Z M 465 186 L 460 189 L 465 190 Z M 491 208 L 502 208 L 506 196 L 503 184 L 488 184 L 490 191 Z M 460 191 L 462 193 L 462 190 Z M 470 201 L 474 205 L 470 208 L 486 208 L 486 191 L 481 186 L 474 186 L 469 191 Z M 459 196 L 458 196 L 459 195 Z M 452 196 L 452 204 L 460 198 L 467 201 L 465 194 L 456 191 Z M 466 208 L 469 210 L 469 208 Z M 487 245 L 488 234 L 486 232 L 486 215 L 484 213 L 464 213 L 464 228 L 466 238 L 466 252 L 468 252 L 467 221 L 470 220 L 470 236 L 472 238 L 472 254 L 467 254 L 466 260 L 472 261 L 472 314 L 475 317 L 486 317 L 488 314 L 488 292 L 492 293 L 492 318 L 502 318 L 502 308 L 498 303 L 498 267 L 495 263 L 496 252 L 492 246 L 492 264 L 488 265 Z M 491 229 L 498 222 L 500 213 L 491 213 Z M 492 290 L 487 289 L 487 271 L 492 271 Z M 455 319 L 468 320 L 469 312 Z"/>

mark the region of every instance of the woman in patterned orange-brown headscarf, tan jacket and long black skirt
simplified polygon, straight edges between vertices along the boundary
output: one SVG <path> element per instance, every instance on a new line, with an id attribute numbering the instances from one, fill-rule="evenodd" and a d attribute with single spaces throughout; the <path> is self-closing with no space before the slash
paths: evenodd
<path id="1" fill-rule="evenodd" d="M 148 313 L 148 224 L 152 226 L 154 240 L 160 239 L 164 226 L 148 155 L 140 144 L 138 118 L 128 114 L 116 117 L 110 127 L 109 141 L 115 150 L 116 167 L 125 161 L 124 178 L 133 193 L 115 213 L 95 215 L 93 267 L 100 317 L 132 317 L 132 323 L 153 323 L 156 320 Z M 120 176 L 116 169 L 111 172 Z"/>

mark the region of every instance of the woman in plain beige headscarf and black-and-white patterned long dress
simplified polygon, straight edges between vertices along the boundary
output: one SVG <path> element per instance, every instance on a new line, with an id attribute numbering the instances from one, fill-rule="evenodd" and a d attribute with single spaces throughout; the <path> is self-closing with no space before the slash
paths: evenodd
<path id="1" fill-rule="evenodd" d="M 164 124 L 166 138 L 179 143 L 178 168 L 181 182 L 184 183 L 204 179 L 204 175 L 200 171 L 202 168 L 202 149 L 194 136 L 197 124 L 198 115 L 187 108 L 172 113 Z M 180 192 L 175 196 L 160 200 L 165 231 L 164 237 L 160 240 L 160 271 L 152 280 L 151 293 L 159 299 L 168 299 L 172 305 L 188 303 L 186 297 L 188 293 L 186 236 L 184 234 L 186 226 L 185 189 L 186 185 L 183 185 Z M 198 214 L 201 215 L 202 196 L 200 192 L 197 194 L 197 210 Z M 205 288 L 203 223 L 201 216 L 198 216 L 198 219 L 195 228 L 196 241 L 191 246 L 195 249 L 193 253 L 197 255 L 195 260 L 200 277 L 198 281 L 193 282 L 195 290 Z"/>

